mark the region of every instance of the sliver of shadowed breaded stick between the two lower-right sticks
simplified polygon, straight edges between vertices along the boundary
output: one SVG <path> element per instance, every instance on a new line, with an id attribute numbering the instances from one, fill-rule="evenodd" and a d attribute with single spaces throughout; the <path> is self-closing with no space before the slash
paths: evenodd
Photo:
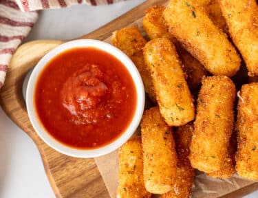
<path id="1" fill-rule="evenodd" d="M 237 136 L 235 133 L 231 135 L 230 144 L 228 147 L 228 153 L 224 159 L 224 164 L 220 170 L 212 173 L 207 173 L 208 177 L 215 177 L 221 179 L 227 179 L 235 173 L 235 152 L 237 151 Z"/>

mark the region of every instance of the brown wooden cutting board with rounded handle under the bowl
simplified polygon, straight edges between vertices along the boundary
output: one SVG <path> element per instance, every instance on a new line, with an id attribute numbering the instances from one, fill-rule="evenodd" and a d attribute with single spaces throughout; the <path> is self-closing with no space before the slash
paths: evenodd
<path id="1" fill-rule="evenodd" d="M 114 30 L 130 25 L 144 15 L 151 5 L 164 4 L 164 0 L 149 0 L 123 14 L 102 28 L 78 39 L 106 40 Z M 25 107 L 22 85 L 25 74 L 52 48 L 65 41 L 32 41 L 21 45 L 10 63 L 6 82 L 0 91 L 0 104 L 6 114 L 27 133 L 41 153 L 50 184 L 58 198 L 109 197 L 107 188 L 94 159 L 69 157 L 54 151 L 36 134 Z"/>

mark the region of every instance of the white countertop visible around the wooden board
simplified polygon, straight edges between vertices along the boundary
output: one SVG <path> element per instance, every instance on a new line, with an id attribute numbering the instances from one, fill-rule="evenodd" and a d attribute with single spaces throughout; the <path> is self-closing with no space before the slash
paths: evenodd
<path id="1" fill-rule="evenodd" d="M 74 39 L 96 30 L 144 0 L 41 12 L 27 41 Z M 0 198 L 54 198 L 34 142 L 0 108 Z M 258 197 L 257 193 L 246 198 Z M 83 197 L 82 197 L 83 198 Z"/>

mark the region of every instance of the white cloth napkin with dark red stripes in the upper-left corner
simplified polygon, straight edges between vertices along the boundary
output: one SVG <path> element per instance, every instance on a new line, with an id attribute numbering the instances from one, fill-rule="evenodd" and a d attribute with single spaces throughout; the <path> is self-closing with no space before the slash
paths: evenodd
<path id="1" fill-rule="evenodd" d="M 21 41 L 29 34 L 39 12 L 69 5 L 107 5 L 123 0 L 0 0 L 0 88 L 6 78 L 8 65 Z"/>

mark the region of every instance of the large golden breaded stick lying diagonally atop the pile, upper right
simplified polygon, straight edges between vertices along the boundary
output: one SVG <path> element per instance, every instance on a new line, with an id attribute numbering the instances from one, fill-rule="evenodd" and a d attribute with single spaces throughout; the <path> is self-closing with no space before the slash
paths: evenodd
<path id="1" fill-rule="evenodd" d="M 241 59 L 226 34 L 193 2 L 171 0 L 163 12 L 169 32 L 214 75 L 234 76 Z"/>

